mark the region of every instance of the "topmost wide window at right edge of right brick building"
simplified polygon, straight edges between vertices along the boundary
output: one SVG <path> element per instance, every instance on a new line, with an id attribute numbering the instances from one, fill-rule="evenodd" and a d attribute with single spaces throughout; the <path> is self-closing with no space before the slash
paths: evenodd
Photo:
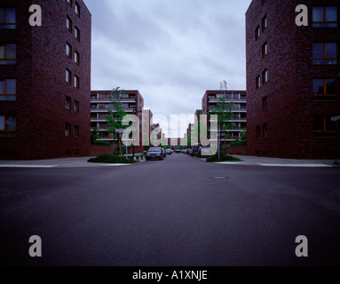
<path id="1" fill-rule="evenodd" d="M 312 8 L 313 28 L 336 28 L 337 27 L 337 7 L 313 7 Z"/>

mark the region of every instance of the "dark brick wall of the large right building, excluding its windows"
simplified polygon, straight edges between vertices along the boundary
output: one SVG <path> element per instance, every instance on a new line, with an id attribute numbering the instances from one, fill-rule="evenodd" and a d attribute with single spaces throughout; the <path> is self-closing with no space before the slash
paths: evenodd
<path id="1" fill-rule="evenodd" d="M 309 8 L 309 27 L 297 27 L 297 4 Z M 339 79 L 339 64 L 314 66 L 312 43 L 337 42 L 339 28 L 312 28 L 313 5 L 338 5 L 329 1 L 254 0 L 246 13 L 247 40 L 247 146 L 248 154 L 284 158 L 336 158 L 340 155 L 340 137 L 313 138 L 313 114 L 340 114 L 340 103 L 312 100 L 313 78 Z M 255 40 L 257 25 L 264 16 L 268 27 Z M 262 45 L 268 43 L 268 55 L 262 58 Z M 339 63 L 339 60 L 338 60 Z M 256 89 L 256 77 L 268 70 L 268 82 Z M 262 99 L 267 97 L 264 111 Z M 268 135 L 263 137 L 263 125 Z M 261 138 L 256 128 L 261 126 Z"/>

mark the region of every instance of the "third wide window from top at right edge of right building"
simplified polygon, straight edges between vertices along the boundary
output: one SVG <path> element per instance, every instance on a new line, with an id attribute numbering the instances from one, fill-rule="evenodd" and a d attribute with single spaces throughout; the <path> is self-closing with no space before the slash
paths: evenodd
<path id="1" fill-rule="evenodd" d="M 312 94 L 315 100 L 336 100 L 339 86 L 336 79 L 313 79 Z"/>

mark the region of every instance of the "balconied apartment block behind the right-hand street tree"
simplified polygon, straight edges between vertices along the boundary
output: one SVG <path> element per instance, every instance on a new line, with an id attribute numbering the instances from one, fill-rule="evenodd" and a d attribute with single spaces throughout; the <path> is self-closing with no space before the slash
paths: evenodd
<path id="1" fill-rule="evenodd" d="M 221 133 L 222 142 L 234 142 L 241 138 L 247 128 L 247 92 L 246 91 L 206 91 L 202 98 L 202 114 L 210 114 L 211 109 L 224 99 L 225 103 L 233 103 L 232 130 Z"/>

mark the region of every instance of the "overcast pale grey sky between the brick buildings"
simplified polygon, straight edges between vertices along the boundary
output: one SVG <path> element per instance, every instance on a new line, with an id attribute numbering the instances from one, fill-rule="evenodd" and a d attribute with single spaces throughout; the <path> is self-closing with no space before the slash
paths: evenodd
<path id="1" fill-rule="evenodd" d="M 169 121 L 201 109 L 205 91 L 223 80 L 228 90 L 245 90 L 251 0 L 84 2 L 92 14 L 91 90 L 138 90 L 145 107 Z M 157 119 L 166 131 L 164 120 Z"/>

